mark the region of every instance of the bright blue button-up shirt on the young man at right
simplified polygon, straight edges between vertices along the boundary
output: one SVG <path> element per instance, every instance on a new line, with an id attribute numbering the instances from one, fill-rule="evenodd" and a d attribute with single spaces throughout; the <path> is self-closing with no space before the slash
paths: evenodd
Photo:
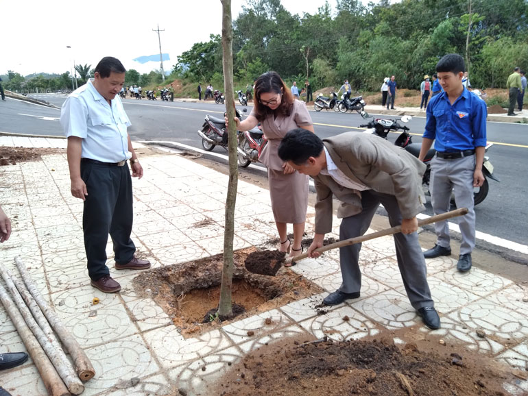
<path id="1" fill-rule="evenodd" d="M 485 101 L 466 87 L 453 105 L 446 92 L 433 97 L 426 114 L 423 137 L 435 140 L 436 151 L 464 151 L 486 145 Z"/>

